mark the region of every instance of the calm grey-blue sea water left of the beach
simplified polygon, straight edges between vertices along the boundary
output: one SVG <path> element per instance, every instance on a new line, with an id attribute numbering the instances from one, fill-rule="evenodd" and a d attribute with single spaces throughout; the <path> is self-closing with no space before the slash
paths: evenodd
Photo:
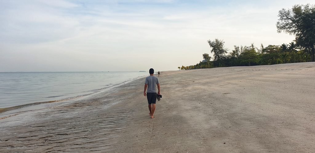
<path id="1" fill-rule="evenodd" d="M 148 72 L 0 72 L 0 108 L 71 99 Z"/>

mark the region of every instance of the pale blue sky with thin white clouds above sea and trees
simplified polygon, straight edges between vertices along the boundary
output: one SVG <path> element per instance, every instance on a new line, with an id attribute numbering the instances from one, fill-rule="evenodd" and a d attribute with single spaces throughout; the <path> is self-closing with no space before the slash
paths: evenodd
<path id="1" fill-rule="evenodd" d="M 196 65 L 208 40 L 290 43 L 278 11 L 314 0 L 0 0 L 0 72 L 155 71 Z"/>

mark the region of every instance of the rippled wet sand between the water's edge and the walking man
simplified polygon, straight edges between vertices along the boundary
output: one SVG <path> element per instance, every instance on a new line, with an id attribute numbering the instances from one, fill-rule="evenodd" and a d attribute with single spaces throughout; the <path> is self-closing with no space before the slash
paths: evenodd
<path id="1" fill-rule="evenodd" d="M 121 134 L 126 118 L 133 112 L 129 106 L 112 106 L 129 96 L 100 94 L 70 105 L 10 118 L 0 125 L 0 152 L 110 150 L 111 140 Z"/>

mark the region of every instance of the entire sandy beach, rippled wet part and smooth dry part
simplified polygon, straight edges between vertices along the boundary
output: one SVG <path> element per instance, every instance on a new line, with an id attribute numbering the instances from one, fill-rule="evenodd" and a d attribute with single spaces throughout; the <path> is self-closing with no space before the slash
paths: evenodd
<path id="1" fill-rule="evenodd" d="M 314 152 L 315 63 L 164 71 L 0 120 L 0 152 Z"/>

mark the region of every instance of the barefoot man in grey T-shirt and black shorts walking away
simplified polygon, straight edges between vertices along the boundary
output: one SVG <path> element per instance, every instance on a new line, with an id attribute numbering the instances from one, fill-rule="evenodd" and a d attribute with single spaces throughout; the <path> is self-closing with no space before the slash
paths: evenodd
<path id="1" fill-rule="evenodd" d="M 157 94 L 160 94 L 160 82 L 158 81 L 158 78 L 154 76 L 154 70 L 152 68 L 149 70 L 149 73 L 150 76 L 146 77 L 146 81 L 144 82 L 143 95 L 148 99 L 149 115 L 151 118 L 154 118 L 155 102 L 157 101 Z M 157 85 L 157 89 L 155 85 Z"/>

